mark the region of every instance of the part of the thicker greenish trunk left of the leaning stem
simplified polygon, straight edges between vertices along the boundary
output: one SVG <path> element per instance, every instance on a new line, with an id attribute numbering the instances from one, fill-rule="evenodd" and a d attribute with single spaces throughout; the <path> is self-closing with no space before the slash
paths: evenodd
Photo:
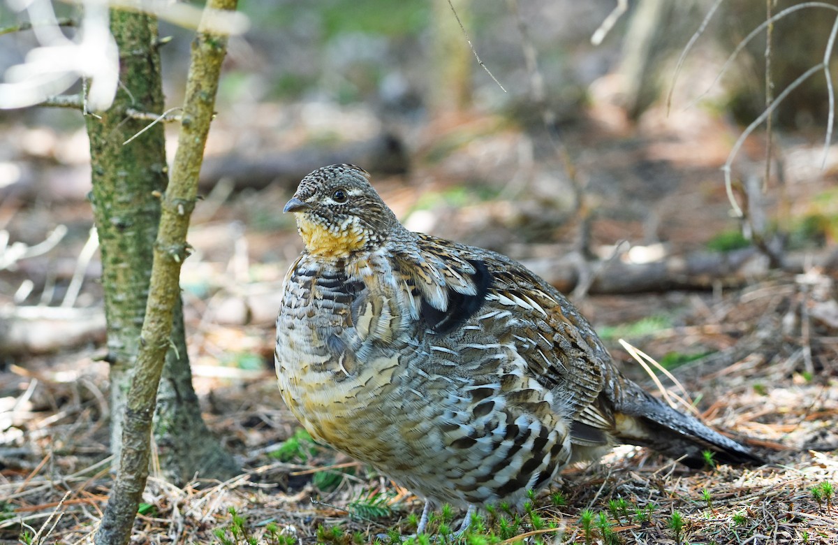
<path id="1" fill-rule="evenodd" d="M 127 117 L 129 107 L 163 111 L 157 21 L 139 13 L 111 11 L 111 33 L 120 50 L 123 86 L 107 112 L 88 115 L 93 191 L 99 234 L 102 288 L 107 319 L 107 361 L 111 364 L 111 452 L 118 464 L 122 423 L 140 329 L 146 311 L 151 255 L 166 189 L 163 127 L 158 124 L 129 145 L 147 122 Z M 115 470 L 118 469 L 114 468 Z"/>

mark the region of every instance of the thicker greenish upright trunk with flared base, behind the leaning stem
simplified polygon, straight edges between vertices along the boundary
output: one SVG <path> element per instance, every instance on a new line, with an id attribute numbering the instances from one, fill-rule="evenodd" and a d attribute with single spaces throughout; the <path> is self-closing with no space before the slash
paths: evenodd
<path id="1" fill-rule="evenodd" d="M 157 21 L 142 13 L 111 11 L 111 32 L 121 53 L 124 86 L 111 109 L 87 116 L 91 139 L 93 191 L 102 256 L 108 357 L 111 363 L 111 451 L 114 469 L 122 455 L 122 426 L 133 366 L 140 348 L 146 312 L 154 241 L 160 221 L 160 199 L 166 190 L 166 158 L 161 124 L 123 145 L 146 121 L 127 116 L 127 109 L 163 111 Z M 196 473 L 225 478 L 237 470 L 200 418 L 192 388 L 184 337 L 183 312 L 177 297 L 155 439 L 163 477 L 183 484 Z M 167 346 L 168 348 L 168 346 Z M 156 388 L 156 386 L 155 386 Z"/>

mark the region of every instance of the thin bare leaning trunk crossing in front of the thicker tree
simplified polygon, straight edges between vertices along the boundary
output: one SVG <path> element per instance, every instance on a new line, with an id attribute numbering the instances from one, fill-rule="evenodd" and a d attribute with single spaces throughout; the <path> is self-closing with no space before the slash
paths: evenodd
<path id="1" fill-rule="evenodd" d="M 217 23 L 219 13 L 235 10 L 236 0 L 209 0 L 205 19 Z M 127 543 L 148 477 L 152 418 L 163 362 L 172 333 L 173 309 L 180 296 L 180 267 L 189 255 L 186 232 L 198 193 L 198 174 L 214 115 L 225 35 L 206 31 L 204 19 L 192 44 L 192 60 L 184 99 L 171 179 L 161 195 L 162 215 L 154 244 L 152 276 L 136 371 L 128 394 L 122 434 L 122 456 L 96 545 Z"/>

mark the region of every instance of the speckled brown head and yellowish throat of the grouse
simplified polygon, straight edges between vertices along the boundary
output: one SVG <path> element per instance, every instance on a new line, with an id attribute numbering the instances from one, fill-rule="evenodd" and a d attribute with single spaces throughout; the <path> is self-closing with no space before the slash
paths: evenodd
<path id="1" fill-rule="evenodd" d="M 308 252 L 343 258 L 404 232 L 369 178 L 353 164 L 329 165 L 303 178 L 284 211 L 297 216 Z"/>

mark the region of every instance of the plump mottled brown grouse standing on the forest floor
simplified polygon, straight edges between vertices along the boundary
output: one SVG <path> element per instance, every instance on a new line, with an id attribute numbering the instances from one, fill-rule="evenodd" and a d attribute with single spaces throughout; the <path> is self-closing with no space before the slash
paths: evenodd
<path id="1" fill-rule="evenodd" d="M 292 211 L 305 249 L 277 319 L 282 397 L 314 439 L 430 501 L 520 506 L 613 444 L 688 465 L 750 450 L 649 396 L 555 288 L 495 252 L 407 231 L 352 165 Z"/>

